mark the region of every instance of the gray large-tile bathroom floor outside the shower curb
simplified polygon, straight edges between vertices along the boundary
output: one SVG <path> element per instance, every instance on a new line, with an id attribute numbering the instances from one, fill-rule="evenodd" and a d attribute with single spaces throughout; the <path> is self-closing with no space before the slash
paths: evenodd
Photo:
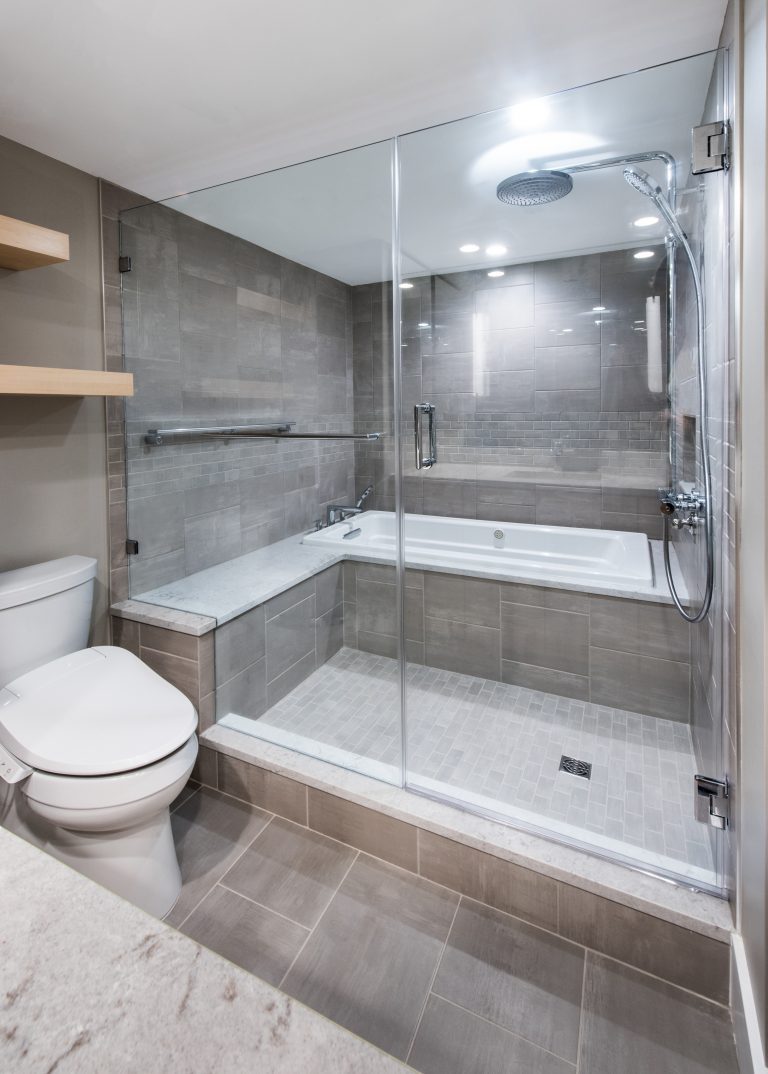
<path id="1" fill-rule="evenodd" d="M 202 788 L 173 814 L 188 935 L 426 1074 L 736 1074 L 728 1012 Z"/>

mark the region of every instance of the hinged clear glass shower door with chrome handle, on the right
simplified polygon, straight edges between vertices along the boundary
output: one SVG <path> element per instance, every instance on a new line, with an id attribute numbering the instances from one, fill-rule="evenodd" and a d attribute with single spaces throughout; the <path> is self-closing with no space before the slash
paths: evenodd
<path id="1" fill-rule="evenodd" d="M 399 139 L 404 410 L 434 408 L 438 431 L 426 468 L 403 441 L 405 561 L 424 568 L 404 578 L 407 785 L 708 889 L 719 840 L 693 790 L 708 643 L 668 604 L 656 495 L 672 427 L 695 425 L 695 306 L 680 262 L 672 426 L 666 229 L 621 161 L 647 157 L 665 189 L 671 155 L 682 226 L 698 232 L 706 206 L 710 285 L 727 293 L 722 179 L 685 183 L 720 62 Z M 496 197 L 536 170 L 573 189 Z M 725 353 L 713 340 L 714 365 Z M 722 406 L 715 378 L 710 397 Z"/>

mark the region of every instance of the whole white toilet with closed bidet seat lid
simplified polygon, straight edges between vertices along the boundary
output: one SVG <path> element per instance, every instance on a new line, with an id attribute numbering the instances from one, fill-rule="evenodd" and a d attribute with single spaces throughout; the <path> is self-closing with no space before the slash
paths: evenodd
<path id="1" fill-rule="evenodd" d="M 197 713 L 127 650 L 86 648 L 96 568 L 71 555 L 0 574 L 2 823 L 162 917 L 182 887 L 169 807 Z"/>

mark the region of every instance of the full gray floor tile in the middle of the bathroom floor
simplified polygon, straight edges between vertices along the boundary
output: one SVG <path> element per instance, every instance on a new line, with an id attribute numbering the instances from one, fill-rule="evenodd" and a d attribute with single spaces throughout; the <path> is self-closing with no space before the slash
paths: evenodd
<path id="1" fill-rule="evenodd" d="M 281 987 L 404 1059 L 455 905 L 445 888 L 361 856 Z"/>

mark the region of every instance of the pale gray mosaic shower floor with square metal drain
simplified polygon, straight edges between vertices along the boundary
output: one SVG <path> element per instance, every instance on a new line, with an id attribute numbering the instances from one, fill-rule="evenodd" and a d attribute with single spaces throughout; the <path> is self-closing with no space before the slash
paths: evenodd
<path id="1" fill-rule="evenodd" d="M 397 662 L 342 649 L 258 721 L 224 723 L 400 782 Z M 620 857 L 715 884 L 693 816 L 685 724 L 408 665 L 408 783 Z M 567 755 L 589 780 L 560 771 Z"/>

